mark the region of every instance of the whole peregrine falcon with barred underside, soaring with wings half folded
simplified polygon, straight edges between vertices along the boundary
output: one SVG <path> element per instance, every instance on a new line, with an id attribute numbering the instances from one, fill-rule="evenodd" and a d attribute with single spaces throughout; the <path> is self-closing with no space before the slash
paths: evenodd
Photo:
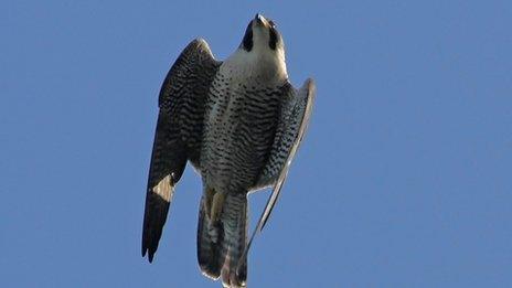
<path id="1" fill-rule="evenodd" d="M 223 287 L 247 286 L 247 252 L 260 232 L 307 130 L 316 85 L 295 88 L 285 43 L 257 13 L 239 46 L 215 60 L 203 39 L 179 55 L 160 89 L 142 227 L 142 257 L 153 260 L 174 186 L 188 162 L 200 174 L 198 262 Z M 250 192 L 271 193 L 248 237 Z"/>

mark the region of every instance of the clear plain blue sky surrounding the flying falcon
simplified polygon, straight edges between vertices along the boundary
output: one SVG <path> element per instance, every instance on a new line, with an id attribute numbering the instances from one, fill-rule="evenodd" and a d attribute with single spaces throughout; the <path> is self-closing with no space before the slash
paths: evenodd
<path id="1" fill-rule="evenodd" d="M 190 40 L 224 58 L 256 12 L 318 94 L 249 285 L 512 286 L 511 1 L 174 2 L 0 4 L 1 287 L 220 287 L 190 168 L 140 256 L 157 95 Z"/>

